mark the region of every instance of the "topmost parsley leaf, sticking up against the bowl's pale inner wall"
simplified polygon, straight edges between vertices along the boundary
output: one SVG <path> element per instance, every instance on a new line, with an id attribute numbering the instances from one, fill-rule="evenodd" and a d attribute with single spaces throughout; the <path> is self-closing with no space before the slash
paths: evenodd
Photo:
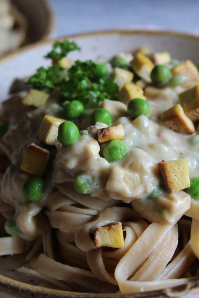
<path id="1" fill-rule="evenodd" d="M 44 56 L 45 58 L 60 60 L 71 51 L 80 51 L 80 47 L 78 47 L 74 41 L 70 42 L 67 39 L 64 41 L 55 41 L 52 47 L 52 51 L 49 52 L 46 56 Z"/>

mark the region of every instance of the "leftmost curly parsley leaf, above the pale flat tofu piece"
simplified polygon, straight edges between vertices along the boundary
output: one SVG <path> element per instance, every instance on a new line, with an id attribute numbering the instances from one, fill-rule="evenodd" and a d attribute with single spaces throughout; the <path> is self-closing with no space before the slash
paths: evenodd
<path id="1" fill-rule="evenodd" d="M 45 68 L 39 67 L 35 75 L 29 77 L 27 84 L 33 85 L 35 88 L 51 88 L 54 89 L 57 83 L 60 83 L 62 78 L 58 72 L 63 71 L 62 67 L 49 66 Z"/>

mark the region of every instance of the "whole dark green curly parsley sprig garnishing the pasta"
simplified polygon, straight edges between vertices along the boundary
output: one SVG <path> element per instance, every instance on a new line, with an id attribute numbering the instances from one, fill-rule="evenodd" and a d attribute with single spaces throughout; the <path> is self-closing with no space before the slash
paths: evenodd
<path id="1" fill-rule="evenodd" d="M 58 47 L 61 53 L 57 52 Z M 59 60 L 74 49 L 79 49 L 74 42 L 56 41 L 53 50 L 46 57 Z M 35 75 L 29 77 L 27 83 L 37 89 L 57 89 L 64 100 L 79 100 L 84 105 L 96 104 L 105 98 L 114 100 L 118 93 L 118 85 L 107 77 L 108 71 L 99 77 L 99 72 L 96 70 L 97 64 L 92 60 L 84 62 L 77 60 L 67 72 L 56 65 L 48 68 L 40 67 Z"/>

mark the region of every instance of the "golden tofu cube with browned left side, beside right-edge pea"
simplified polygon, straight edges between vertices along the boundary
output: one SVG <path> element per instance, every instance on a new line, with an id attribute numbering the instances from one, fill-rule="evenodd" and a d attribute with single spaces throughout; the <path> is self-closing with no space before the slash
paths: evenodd
<path id="1" fill-rule="evenodd" d="M 158 166 L 167 191 L 176 192 L 190 186 L 188 160 L 179 159 L 168 162 L 162 160 L 158 162 Z"/>

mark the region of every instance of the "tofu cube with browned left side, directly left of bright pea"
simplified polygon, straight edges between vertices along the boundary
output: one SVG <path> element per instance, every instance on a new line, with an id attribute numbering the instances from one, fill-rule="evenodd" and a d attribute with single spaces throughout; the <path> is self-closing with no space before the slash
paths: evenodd
<path id="1" fill-rule="evenodd" d="M 37 132 L 37 138 L 47 145 L 55 145 L 59 125 L 66 121 L 65 119 L 45 115 Z"/>

